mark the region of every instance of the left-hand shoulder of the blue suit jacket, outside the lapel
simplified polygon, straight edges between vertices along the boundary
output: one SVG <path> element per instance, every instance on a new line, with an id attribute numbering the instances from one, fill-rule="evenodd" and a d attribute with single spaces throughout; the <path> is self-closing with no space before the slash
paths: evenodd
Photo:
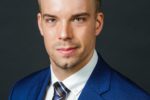
<path id="1" fill-rule="evenodd" d="M 40 71 L 34 72 L 24 77 L 23 79 L 17 81 L 11 89 L 9 100 L 24 100 L 21 98 L 27 96 L 29 94 L 29 91 L 33 90 L 38 85 L 40 85 L 45 80 L 45 78 L 49 76 L 49 74 L 50 69 L 48 67 Z"/>

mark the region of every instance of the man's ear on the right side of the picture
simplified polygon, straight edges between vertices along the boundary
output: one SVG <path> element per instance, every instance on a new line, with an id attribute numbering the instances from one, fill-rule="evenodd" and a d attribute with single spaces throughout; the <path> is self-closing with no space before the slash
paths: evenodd
<path id="1" fill-rule="evenodd" d="M 104 24 L 104 14 L 102 12 L 97 13 L 96 17 L 96 36 L 98 36 L 102 29 Z"/>

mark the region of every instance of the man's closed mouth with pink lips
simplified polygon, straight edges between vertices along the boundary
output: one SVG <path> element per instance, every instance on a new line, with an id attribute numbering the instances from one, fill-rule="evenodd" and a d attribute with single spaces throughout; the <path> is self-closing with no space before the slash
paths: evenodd
<path id="1" fill-rule="evenodd" d="M 64 56 L 70 56 L 75 53 L 77 47 L 58 48 L 56 50 Z"/>

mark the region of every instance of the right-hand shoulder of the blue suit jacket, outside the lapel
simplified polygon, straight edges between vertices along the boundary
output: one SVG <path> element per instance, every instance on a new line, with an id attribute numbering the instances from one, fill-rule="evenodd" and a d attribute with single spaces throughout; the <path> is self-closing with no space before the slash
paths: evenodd
<path id="1" fill-rule="evenodd" d="M 114 69 L 111 69 L 110 87 L 108 94 L 114 100 L 150 100 L 146 91 Z"/>

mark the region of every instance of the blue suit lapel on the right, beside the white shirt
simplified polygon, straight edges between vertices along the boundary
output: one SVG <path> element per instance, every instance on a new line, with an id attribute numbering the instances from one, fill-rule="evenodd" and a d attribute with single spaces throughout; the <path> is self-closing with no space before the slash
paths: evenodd
<path id="1" fill-rule="evenodd" d="M 79 100 L 103 100 L 102 93 L 109 90 L 111 71 L 99 56 L 98 63 L 88 79 Z"/>

